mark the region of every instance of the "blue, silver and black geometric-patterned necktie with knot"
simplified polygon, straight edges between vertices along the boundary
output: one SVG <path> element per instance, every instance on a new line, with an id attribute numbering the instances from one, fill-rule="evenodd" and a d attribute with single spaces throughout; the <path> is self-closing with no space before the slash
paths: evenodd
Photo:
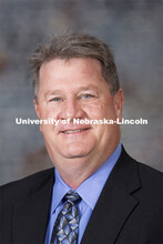
<path id="1" fill-rule="evenodd" d="M 77 244 L 79 231 L 79 213 L 75 204 L 81 201 L 77 192 L 69 191 L 63 197 L 63 209 L 58 215 L 51 244 Z"/>

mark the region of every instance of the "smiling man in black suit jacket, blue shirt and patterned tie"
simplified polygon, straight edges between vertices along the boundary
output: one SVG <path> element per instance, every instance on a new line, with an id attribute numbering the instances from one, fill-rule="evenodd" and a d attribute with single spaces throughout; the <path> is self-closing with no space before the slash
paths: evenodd
<path id="1" fill-rule="evenodd" d="M 120 143 L 123 93 L 113 55 L 86 35 L 54 37 L 30 62 L 54 169 L 0 190 L 1 243 L 163 243 L 162 173 Z M 74 123 L 74 120 L 82 123 Z"/>

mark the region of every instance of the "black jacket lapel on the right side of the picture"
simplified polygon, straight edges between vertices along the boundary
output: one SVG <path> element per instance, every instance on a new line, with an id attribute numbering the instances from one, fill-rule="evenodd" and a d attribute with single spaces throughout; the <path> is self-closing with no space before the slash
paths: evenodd
<path id="1" fill-rule="evenodd" d="M 132 193 L 140 187 L 137 165 L 123 150 L 93 210 L 81 243 L 115 243 L 125 221 L 139 204 Z"/>

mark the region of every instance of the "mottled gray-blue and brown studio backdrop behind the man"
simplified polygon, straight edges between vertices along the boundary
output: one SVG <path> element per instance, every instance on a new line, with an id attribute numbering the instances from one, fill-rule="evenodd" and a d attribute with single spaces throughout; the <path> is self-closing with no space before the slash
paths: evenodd
<path id="1" fill-rule="evenodd" d="M 0 0 L 0 184 L 51 166 L 38 125 L 27 57 L 54 33 L 84 31 L 112 48 L 124 90 L 122 142 L 139 161 L 163 171 L 163 1 Z"/>

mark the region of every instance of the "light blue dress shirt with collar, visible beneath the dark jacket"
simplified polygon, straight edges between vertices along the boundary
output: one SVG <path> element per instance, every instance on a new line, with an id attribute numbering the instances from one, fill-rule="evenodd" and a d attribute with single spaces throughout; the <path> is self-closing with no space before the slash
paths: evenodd
<path id="1" fill-rule="evenodd" d="M 118 145 L 116 150 L 112 153 L 112 155 L 105 161 L 105 163 L 102 164 L 90 177 L 88 177 L 75 190 L 82 199 L 82 201 L 78 204 L 79 214 L 80 214 L 78 244 L 80 244 L 82 240 L 83 233 L 85 231 L 92 211 L 120 154 L 121 154 L 121 143 Z M 69 185 L 67 185 L 63 182 L 57 169 L 54 170 L 54 174 L 55 174 L 55 182 L 53 185 L 50 220 L 47 228 L 44 244 L 50 244 L 57 216 L 63 206 L 62 199 L 67 194 L 67 192 L 72 190 Z"/>

